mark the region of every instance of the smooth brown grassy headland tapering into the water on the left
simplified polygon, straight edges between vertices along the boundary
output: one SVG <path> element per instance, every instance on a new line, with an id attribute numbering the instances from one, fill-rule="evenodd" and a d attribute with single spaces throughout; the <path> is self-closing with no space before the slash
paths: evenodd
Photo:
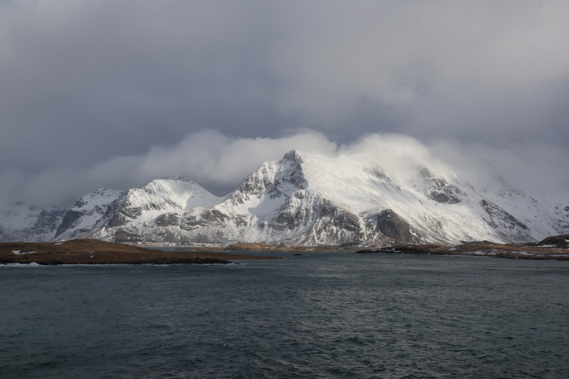
<path id="1" fill-rule="evenodd" d="M 69 240 L 61 242 L 2 242 L 0 264 L 37 263 L 38 265 L 204 265 L 226 264 L 233 260 L 271 260 L 277 257 L 231 254 L 226 252 L 174 252 L 147 249 L 101 240 Z"/>

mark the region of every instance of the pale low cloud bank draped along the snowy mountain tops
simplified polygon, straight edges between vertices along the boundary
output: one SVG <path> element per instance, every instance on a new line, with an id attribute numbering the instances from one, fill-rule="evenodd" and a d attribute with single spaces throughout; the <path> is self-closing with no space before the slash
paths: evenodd
<path id="1" fill-rule="evenodd" d="M 214 130 L 188 134 L 173 146 L 153 146 L 146 154 L 115 156 L 85 169 L 55 167 L 39 173 L 0 174 L 3 206 L 23 201 L 35 206 L 68 206 L 99 186 L 124 190 L 165 175 L 185 175 L 218 196 L 232 191 L 265 161 L 289 150 L 339 156 L 363 153 L 388 174 L 405 174 L 409 158 L 457 173 L 479 188 L 507 183 L 529 194 L 563 196 L 569 189 L 569 153 L 546 144 L 512 144 L 496 149 L 450 139 L 420 142 L 403 134 L 367 134 L 339 144 L 319 132 L 299 131 L 281 138 L 233 138 Z"/>

